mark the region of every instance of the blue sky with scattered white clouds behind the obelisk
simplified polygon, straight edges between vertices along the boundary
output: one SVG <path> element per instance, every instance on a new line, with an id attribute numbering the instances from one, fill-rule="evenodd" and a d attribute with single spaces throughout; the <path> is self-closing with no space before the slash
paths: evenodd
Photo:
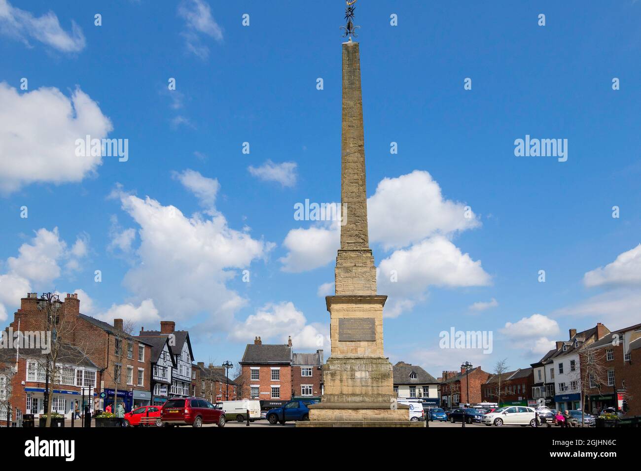
<path id="1" fill-rule="evenodd" d="M 254 335 L 315 350 L 338 232 L 294 204 L 340 198 L 343 15 L 0 0 L 0 321 L 26 290 L 81 290 L 89 315 L 176 320 L 197 361 L 237 362 Z M 358 1 L 392 361 L 526 367 L 569 328 L 641 322 L 640 16 L 632 0 Z M 128 160 L 74 155 L 86 134 L 127 139 Z M 567 161 L 515 156 L 526 135 L 567 139 Z M 492 353 L 440 349 L 451 327 L 492 331 Z"/>

